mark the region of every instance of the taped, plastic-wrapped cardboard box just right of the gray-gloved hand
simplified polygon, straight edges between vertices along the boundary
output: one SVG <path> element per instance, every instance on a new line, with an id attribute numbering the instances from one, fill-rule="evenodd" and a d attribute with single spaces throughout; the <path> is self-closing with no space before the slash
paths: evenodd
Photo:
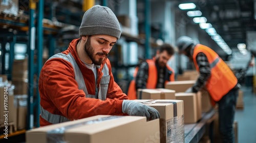
<path id="1" fill-rule="evenodd" d="M 157 109 L 160 113 L 160 140 L 184 142 L 183 101 L 181 100 L 134 100 Z"/>

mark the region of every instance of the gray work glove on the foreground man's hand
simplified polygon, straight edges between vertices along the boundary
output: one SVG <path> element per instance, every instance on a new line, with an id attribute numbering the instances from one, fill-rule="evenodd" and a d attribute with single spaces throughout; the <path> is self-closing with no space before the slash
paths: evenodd
<path id="1" fill-rule="evenodd" d="M 155 108 L 132 100 L 123 100 L 122 112 L 132 116 L 146 116 L 147 120 L 154 120 L 160 117 Z"/>

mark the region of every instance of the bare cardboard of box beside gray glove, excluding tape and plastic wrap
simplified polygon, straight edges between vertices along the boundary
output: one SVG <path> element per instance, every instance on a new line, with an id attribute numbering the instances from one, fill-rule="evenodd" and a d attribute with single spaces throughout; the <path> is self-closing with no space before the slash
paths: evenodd
<path id="1" fill-rule="evenodd" d="M 135 100 L 136 102 L 148 102 L 151 100 Z M 177 116 L 184 114 L 183 101 L 181 100 L 155 100 L 153 104 L 146 104 L 158 110 L 160 113 L 160 136 L 161 143 L 166 142 L 166 132 L 168 130 L 167 122 L 174 118 L 174 104 L 168 102 L 176 102 Z M 159 102 L 159 103 L 158 103 Z"/>

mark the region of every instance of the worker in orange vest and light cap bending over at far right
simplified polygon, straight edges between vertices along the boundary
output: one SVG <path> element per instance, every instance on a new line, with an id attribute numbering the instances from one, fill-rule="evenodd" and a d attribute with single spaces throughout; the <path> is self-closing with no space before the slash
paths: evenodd
<path id="1" fill-rule="evenodd" d="M 219 128 L 223 142 L 234 142 L 233 121 L 239 84 L 226 63 L 209 47 L 196 44 L 193 39 L 182 36 L 177 40 L 181 54 L 195 64 L 200 76 L 196 84 L 186 92 L 197 92 L 203 87 L 210 94 L 212 104 L 219 106 Z"/>

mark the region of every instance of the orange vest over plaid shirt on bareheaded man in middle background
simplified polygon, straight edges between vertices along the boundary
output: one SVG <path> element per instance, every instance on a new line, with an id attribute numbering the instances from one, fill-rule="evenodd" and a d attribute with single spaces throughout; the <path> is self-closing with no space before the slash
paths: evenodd
<path id="1" fill-rule="evenodd" d="M 155 89 L 157 86 L 157 67 L 155 64 L 154 60 L 146 60 L 148 64 L 148 79 L 147 79 L 147 84 L 146 88 L 147 89 Z M 172 74 L 169 77 L 169 81 L 174 81 L 174 70 L 172 67 L 166 64 L 166 67 L 168 70 L 172 71 Z M 139 68 L 135 68 L 134 72 L 134 79 L 131 81 L 128 91 L 127 91 L 127 96 L 129 97 L 130 100 L 135 100 L 137 99 L 137 91 L 136 91 L 136 83 L 135 83 L 135 78 L 138 73 Z M 165 83 L 168 81 L 165 81 Z"/>

